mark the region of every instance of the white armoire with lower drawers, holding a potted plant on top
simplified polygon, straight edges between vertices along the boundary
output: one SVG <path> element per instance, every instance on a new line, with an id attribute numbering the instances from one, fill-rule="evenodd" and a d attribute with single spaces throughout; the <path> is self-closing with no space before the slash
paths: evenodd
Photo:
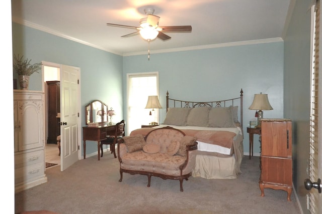
<path id="1" fill-rule="evenodd" d="M 44 94 L 14 90 L 15 192 L 47 182 Z"/>

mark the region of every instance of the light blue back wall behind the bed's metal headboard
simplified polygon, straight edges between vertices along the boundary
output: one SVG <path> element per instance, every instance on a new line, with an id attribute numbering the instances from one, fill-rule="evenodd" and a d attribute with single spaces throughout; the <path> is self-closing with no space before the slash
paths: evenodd
<path id="1" fill-rule="evenodd" d="M 264 117 L 283 117 L 283 42 L 240 45 L 204 50 L 129 56 L 123 59 L 123 83 L 128 73 L 159 72 L 159 99 L 166 113 L 166 93 L 190 101 L 234 98 L 244 91 L 244 151 L 249 152 L 246 127 L 255 111 L 249 110 L 254 94 L 267 93 L 274 108 Z M 126 84 L 123 103 L 126 104 Z M 126 105 L 123 107 L 126 115 Z M 162 122 L 164 119 L 160 118 Z M 254 153 L 259 154 L 259 138 L 254 136 Z"/>

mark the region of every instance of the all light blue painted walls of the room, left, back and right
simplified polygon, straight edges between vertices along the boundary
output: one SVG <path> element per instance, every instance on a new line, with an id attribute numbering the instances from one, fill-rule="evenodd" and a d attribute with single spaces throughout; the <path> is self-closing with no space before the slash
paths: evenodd
<path id="1" fill-rule="evenodd" d="M 81 115 L 88 102 L 100 99 L 118 112 L 116 120 L 126 118 L 127 73 L 158 71 L 163 106 L 167 90 L 173 98 L 209 101 L 239 96 L 243 88 L 245 152 L 249 152 L 246 127 L 255 113 L 248 107 L 255 93 L 267 93 L 274 110 L 265 111 L 264 117 L 293 120 L 293 180 L 303 211 L 308 213 L 302 180 L 309 152 L 310 2 L 296 1 L 285 42 L 152 53 L 147 61 L 146 55 L 121 57 L 13 23 L 13 53 L 25 55 L 32 63 L 80 67 Z M 30 89 L 41 90 L 41 84 L 41 76 L 34 74 Z M 258 153 L 258 136 L 254 142 L 254 152 Z M 87 148 L 88 154 L 97 151 L 95 143 Z"/>

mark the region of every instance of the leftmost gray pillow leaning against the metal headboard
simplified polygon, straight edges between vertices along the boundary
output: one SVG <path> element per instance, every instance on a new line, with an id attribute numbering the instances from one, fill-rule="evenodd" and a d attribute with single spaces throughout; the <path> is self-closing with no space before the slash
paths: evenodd
<path id="1" fill-rule="evenodd" d="M 166 119 L 163 124 L 186 126 L 187 116 L 191 108 L 169 108 Z"/>

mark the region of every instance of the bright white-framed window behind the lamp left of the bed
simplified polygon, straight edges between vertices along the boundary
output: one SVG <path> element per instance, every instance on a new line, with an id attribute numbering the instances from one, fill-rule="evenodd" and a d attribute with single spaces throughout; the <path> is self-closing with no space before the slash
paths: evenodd
<path id="1" fill-rule="evenodd" d="M 158 109 L 145 109 L 148 96 L 158 95 L 158 72 L 127 75 L 127 135 L 143 124 L 158 122 Z"/>

